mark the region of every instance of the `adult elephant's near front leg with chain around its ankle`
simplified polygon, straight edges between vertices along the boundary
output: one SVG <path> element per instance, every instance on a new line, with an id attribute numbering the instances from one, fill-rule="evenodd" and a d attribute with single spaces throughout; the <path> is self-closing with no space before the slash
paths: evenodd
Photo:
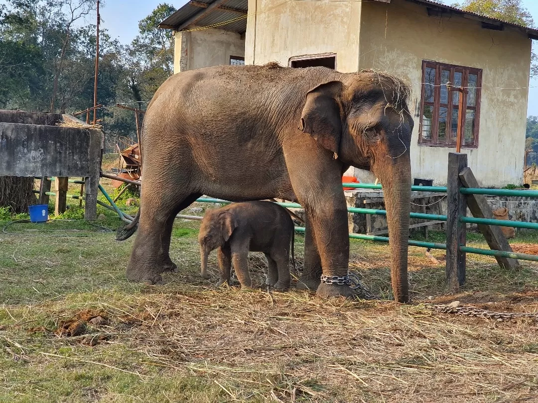
<path id="1" fill-rule="evenodd" d="M 343 194 L 313 211 L 313 228 L 323 268 L 316 294 L 351 297 L 348 284 L 337 284 L 347 280 L 349 266 L 348 209 Z"/>

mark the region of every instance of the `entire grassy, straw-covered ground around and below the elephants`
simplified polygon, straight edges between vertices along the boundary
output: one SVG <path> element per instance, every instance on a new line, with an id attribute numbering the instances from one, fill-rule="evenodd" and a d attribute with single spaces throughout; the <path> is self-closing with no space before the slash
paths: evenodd
<path id="1" fill-rule="evenodd" d="M 535 263 L 506 271 L 468 255 L 468 282 L 450 294 L 444 266 L 410 248 L 413 301 L 400 305 L 388 300 L 388 247 L 353 241 L 350 270 L 381 300 L 215 290 L 199 275 L 196 228 L 176 221 L 180 271 L 165 286 L 126 282 L 133 239 L 69 221 L 0 232 L 0 401 L 538 402 L 538 322 L 426 305 L 536 313 Z M 295 250 L 297 276 L 301 235 Z M 432 253 L 443 261 L 444 251 Z M 252 254 L 251 268 L 261 283 L 263 255 Z"/>

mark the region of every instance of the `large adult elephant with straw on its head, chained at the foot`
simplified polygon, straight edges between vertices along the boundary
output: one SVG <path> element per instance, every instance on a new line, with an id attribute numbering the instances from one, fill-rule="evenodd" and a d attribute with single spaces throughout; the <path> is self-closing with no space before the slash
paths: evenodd
<path id="1" fill-rule="evenodd" d="M 408 88 L 371 70 L 218 66 L 169 77 L 147 107 L 141 205 L 127 277 L 159 284 L 174 216 L 201 195 L 234 202 L 282 198 L 305 207 L 298 287 L 350 296 L 342 174 L 370 169 L 385 192 L 394 298 L 408 300 Z M 321 276 L 321 277 L 320 277 Z M 338 281 L 339 280 L 339 281 Z M 341 284 L 336 284 L 336 283 Z"/>

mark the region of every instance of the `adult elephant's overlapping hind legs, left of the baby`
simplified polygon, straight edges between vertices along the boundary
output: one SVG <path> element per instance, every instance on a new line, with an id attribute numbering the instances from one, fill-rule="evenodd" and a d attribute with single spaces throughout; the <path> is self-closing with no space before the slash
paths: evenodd
<path id="1" fill-rule="evenodd" d="M 126 275 L 132 282 L 161 284 L 162 272 L 176 270 L 169 255 L 175 215 L 192 204 L 200 194 L 152 191 L 142 189 L 140 222 Z"/>

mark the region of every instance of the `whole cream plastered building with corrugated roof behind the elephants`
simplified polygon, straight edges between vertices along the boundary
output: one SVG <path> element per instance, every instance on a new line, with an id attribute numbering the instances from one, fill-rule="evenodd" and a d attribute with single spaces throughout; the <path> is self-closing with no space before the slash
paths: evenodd
<path id="1" fill-rule="evenodd" d="M 190 1 L 160 27 L 176 31 L 176 73 L 242 60 L 388 71 L 413 89 L 413 177 L 447 182 L 448 153 L 463 125 L 462 152 L 480 185 L 522 182 L 536 30 L 428 0 Z M 468 88 L 459 123 L 448 81 Z"/>

